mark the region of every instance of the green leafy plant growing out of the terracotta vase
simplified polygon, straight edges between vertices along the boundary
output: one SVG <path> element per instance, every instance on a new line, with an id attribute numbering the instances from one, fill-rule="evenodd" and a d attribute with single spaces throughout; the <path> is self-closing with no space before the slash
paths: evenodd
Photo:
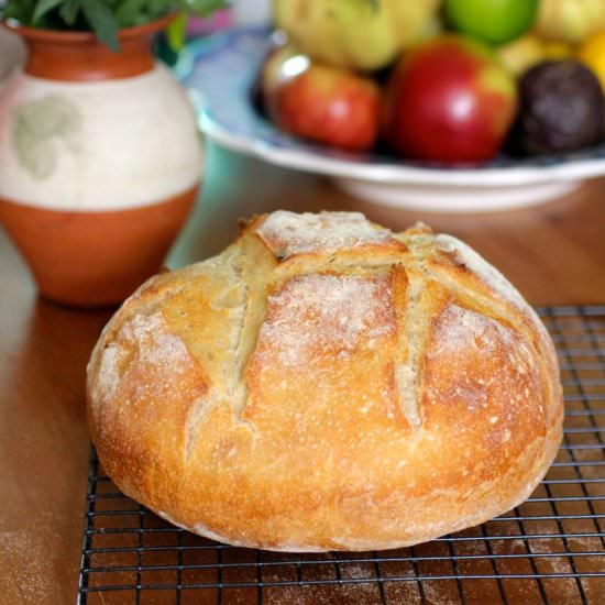
<path id="1" fill-rule="evenodd" d="M 0 0 L 2 19 L 50 30 L 92 31 L 113 51 L 118 30 L 142 25 L 168 13 L 180 13 L 169 26 L 173 43 L 183 38 L 186 15 L 208 15 L 227 0 Z"/>

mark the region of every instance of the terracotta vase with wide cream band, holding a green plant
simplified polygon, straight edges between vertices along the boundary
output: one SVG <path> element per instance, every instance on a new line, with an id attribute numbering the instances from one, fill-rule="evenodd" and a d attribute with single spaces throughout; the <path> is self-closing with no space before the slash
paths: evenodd
<path id="1" fill-rule="evenodd" d="M 120 302 L 158 271 L 197 198 L 194 110 L 154 61 L 168 19 L 94 34 L 14 28 L 29 47 L 0 97 L 0 220 L 40 293 Z"/>

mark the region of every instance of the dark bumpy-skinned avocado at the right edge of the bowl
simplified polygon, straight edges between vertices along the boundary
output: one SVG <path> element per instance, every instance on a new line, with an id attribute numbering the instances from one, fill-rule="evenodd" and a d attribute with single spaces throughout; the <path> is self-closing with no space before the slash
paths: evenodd
<path id="1" fill-rule="evenodd" d="M 547 61 L 519 79 L 514 155 L 571 152 L 603 140 L 605 98 L 596 76 L 574 59 Z"/>

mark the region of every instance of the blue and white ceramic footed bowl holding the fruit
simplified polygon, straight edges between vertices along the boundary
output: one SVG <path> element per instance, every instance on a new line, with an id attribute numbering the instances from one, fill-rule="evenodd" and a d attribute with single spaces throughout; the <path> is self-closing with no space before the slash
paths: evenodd
<path id="1" fill-rule="evenodd" d="M 327 175 L 375 204 L 422 211 L 521 208 L 556 199 L 586 178 L 605 175 L 605 145 L 524 160 L 501 155 L 481 167 L 452 167 L 306 143 L 278 130 L 254 106 L 251 91 L 271 44 L 265 29 L 235 29 L 191 43 L 175 67 L 198 110 L 201 130 L 226 147 Z"/>

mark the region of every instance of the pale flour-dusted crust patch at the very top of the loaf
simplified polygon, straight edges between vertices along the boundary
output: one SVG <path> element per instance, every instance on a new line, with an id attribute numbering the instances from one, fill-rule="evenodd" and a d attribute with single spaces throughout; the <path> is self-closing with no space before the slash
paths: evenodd
<path id="1" fill-rule="evenodd" d="M 392 238 L 388 229 L 373 224 L 361 212 L 297 215 L 278 210 L 256 232 L 279 258 L 380 244 Z"/>

